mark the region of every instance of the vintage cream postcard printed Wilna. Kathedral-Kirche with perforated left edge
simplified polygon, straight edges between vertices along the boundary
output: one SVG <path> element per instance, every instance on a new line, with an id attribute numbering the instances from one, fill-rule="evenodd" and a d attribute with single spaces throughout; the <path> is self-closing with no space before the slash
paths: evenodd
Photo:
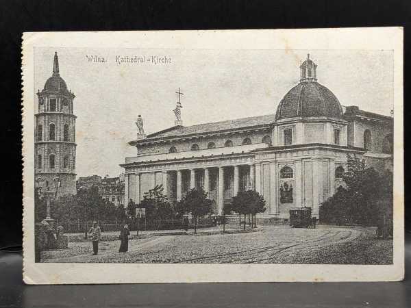
<path id="1" fill-rule="evenodd" d="M 398 281 L 399 27 L 23 34 L 24 281 Z"/>

